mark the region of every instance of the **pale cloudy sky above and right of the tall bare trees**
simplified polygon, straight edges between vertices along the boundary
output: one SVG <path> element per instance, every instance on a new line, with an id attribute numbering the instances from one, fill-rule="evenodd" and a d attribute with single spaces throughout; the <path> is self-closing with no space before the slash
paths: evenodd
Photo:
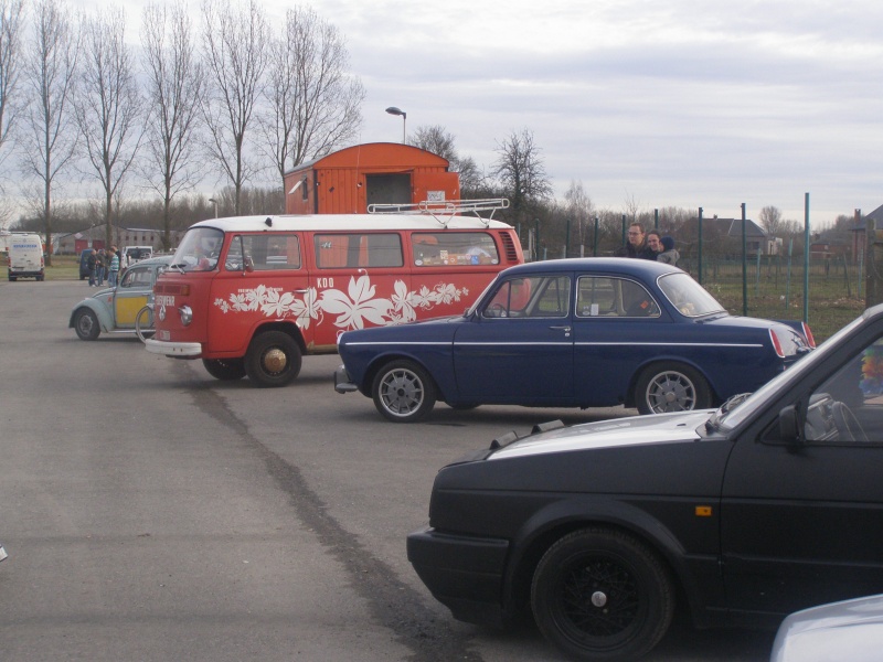
<path id="1" fill-rule="evenodd" d="M 557 196 L 581 181 L 599 207 L 738 216 L 744 202 L 802 221 L 809 193 L 818 227 L 883 204 L 879 0 L 301 4 L 345 38 L 368 92 L 361 142 L 401 140 L 384 113 L 397 106 L 485 168 L 531 130 Z M 140 20 L 142 1 L 124 6 Z"/>

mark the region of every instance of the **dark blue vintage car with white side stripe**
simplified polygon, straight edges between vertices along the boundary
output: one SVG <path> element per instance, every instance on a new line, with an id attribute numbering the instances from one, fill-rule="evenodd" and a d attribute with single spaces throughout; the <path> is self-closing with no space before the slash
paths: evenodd
<path id="1" fill-rule="evenodd" d="M 702 409 L 755 391 L 811 338 L 800 322 L 728 314 L 677 267 L 550 260 L 506 269 L 460 317 L 341 334 L 334 388 L 372 397 L 398 423 L 437 401 Z"/>

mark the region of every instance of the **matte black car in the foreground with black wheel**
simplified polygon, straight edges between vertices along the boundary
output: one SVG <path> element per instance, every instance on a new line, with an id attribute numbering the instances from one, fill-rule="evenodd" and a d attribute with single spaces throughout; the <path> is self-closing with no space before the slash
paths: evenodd
<path id="1" fill-rule="evenodd" d="M 635 660 L 677 604 L 776 627 L 883 592 L 883 306 L 719 409 L 560 424 L 443 468 L 408 559 L 454 617 L 532 609 L 584 660 Z"/>

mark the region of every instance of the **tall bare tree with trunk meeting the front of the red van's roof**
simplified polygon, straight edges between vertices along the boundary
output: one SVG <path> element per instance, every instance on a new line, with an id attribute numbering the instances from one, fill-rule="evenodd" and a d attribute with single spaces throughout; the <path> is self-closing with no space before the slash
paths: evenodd
<path id="1" fill-rule="evenodd" d="M 205 65 L 211 84 L 202 110 L 208 149 L 234 191 L 234 213 L 242 213 L 242 189 L 257 167 L 246 161 L 245 139 L 264 85 L 269 28 L 255 0 L 234 10 L 228 1 L 205 0 Z"/>

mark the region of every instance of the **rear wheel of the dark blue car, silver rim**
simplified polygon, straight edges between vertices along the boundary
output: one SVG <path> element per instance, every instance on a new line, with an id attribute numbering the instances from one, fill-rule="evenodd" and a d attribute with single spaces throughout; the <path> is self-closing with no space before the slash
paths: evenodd
<path id="1" fill-rule="evenodd" d="M 705 409 L 711 404 L 711 388 L 705 377 L 680 363 L 650 365 L 635 386 L 635 406 L 641 414 Z"/>

